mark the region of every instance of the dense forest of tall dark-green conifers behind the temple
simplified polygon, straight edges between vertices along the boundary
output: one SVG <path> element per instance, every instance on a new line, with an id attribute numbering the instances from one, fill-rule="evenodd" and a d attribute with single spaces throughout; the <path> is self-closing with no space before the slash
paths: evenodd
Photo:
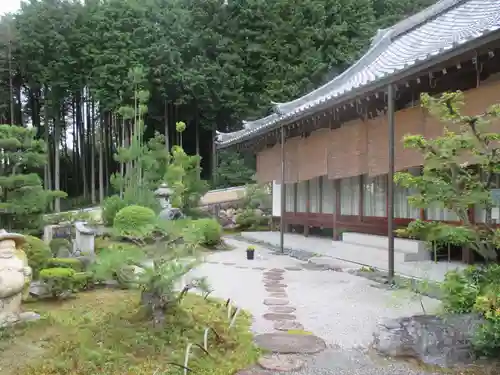
<path id="1" fill-rule="evenodd" d="M 120 108 L 135 108 L 131 87 L 140 86 L 141 141 L 159 132 L 167 149 L 182 143 L 209 178 L 216 129 L 236 130 L 272 101 L 333 78 L 377 29 L 434 2 L 25 1 L 0 20 L 0 123 L 33 128 L 48 145 L 49 162 L 38 167 L 46 189 L 65 191 L 72 205 L 95 203 L 111 193 L 115 154 L 134 125 Z M 230 152 L 219 160 L 220 186 L 251 176 L 251 160 Z"/>

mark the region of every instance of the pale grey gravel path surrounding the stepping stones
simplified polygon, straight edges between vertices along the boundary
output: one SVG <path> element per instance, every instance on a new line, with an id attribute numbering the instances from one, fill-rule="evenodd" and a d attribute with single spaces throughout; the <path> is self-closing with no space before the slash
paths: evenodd
<path id="1" fill-rule="evenodd" d="M 277 297 L 296 309 L 286 319 L 300 323 L 327 344 L 322 353 L 305 357 L 306 366 L 300 372 L 288 374 L 430 375 L 404 363 L 374 360 L 367 354 L 379 321 L 422 312 L 420 301 L 409 292 L 377 288 L 365 278 L 344 272 L 345 268 L 317 270 L 260 246 L 256 246 L 255 260 L 249 261 L 245 254 L 247 243 L 234 239 L 227 242 L 235 249 L 210 254 L 195 271 L 196 276 L 207 276 L 214 289 L 212 295 L 231 298 L 237 306 L 250 311 L 256 334 L 277 332 L 275 322 L 265 315 L 272 312 L 273 306 L 264 304 L 264 300 Z M 272 269 L 282 271 L 270 273 Z M 274 276 L 280 277 L 272 280 Z M 264 283 L 267 288 L 274 287 L 269 285 L 272 281 L 281 284 L 281 295 L 270 295 L 276 291 L 266 290 Z M 428 312 L 439 307 L 439 302 L 430 298 L 424 298 L 423 304 Z M 262 370 L 251 373 L 273 374 Z"/>

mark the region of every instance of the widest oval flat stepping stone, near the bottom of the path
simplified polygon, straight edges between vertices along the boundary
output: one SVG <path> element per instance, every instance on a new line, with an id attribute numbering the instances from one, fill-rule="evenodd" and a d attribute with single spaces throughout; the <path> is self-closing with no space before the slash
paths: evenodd
<path id="1" fill-rule="evenodd" d="M 276 332 L 257 335 L 254 340 L 258 347 L 272 353 L 314 354 L 326 349 L 323 339 L 314 335 Z"/>

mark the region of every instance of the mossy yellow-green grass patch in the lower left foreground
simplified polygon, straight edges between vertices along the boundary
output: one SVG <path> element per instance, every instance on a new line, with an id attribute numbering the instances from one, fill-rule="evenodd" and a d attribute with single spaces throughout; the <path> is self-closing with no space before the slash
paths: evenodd
<path id="1" fill-rule="evenodd" d="M 2 375 L 167 375 L 183 369 L 186 345 L 193 348 L 188 367 L 196 374 L 229 375 L 255 363 L 258 350 L 249 332 L 250 316 L 238 315 L 228 330 L 227 311 L 216 300 L 188 294 L 161 327 L 144 319 L 136 291 L 98 290 L 65 302 L 27 307 L 42 320 L 0 331 Z M 22 360 L 20 360 L 22 359 Z"/>

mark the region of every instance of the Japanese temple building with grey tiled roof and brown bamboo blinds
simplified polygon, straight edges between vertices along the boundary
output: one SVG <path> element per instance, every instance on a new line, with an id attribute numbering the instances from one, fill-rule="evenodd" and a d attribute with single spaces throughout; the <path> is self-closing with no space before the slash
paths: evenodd
<path id="1" fill-rule="evenodd" d="M 257 179 L 274 183 L 284 207 L 273 215 L 282 213 L 287 229 L 387 235 L 417 218 L 453 222 L 445 209 L 411 207 L 411 192 L 391 191 L 389 181 L 394 171 L 420 173 L 422 156 L 403 148 L 404 135 L 442 134 L 420 94 L 455 90 L 464 91 L 467 114 L 500 103 L 499 0 L 442 0 L 380 30 L 344 73 L 239 131 L 218 133 L 216 147 L 256 154 Z M 485 215 L 476 207 L 470 216 Z"/>

